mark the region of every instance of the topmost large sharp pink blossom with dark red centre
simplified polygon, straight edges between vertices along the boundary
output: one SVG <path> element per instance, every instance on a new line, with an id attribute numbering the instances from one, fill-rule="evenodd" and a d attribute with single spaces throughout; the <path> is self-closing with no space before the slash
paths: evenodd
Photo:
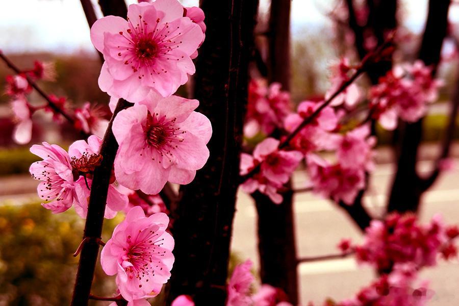
<path id="1" fill-rule="evenodd" d="M 91 28 L 91 41 L 104 54 L 99 87 L 137 103 L 151 90 L 174 93 L 195 72 L 190 56 L 202 42 L 199 25 L 183 17 L 177 0 L 129 6 L 128 21 L 107 16 Z"/>

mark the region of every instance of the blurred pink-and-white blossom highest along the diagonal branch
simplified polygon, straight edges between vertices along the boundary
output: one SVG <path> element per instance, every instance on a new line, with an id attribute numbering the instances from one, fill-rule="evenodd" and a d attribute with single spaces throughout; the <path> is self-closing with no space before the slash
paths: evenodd
<path id="1" fill-rule="evenodd" d="M 325 99 L 329 99 L 331 95 L 338 91 L 338 89 L 349 80 L 347 73 L 352 68 L 349 65 L 349 60 L 347 58 L 342 58 L 341 61 L 332 67 L 332 77 L 331 77 L 331 87 L 325 93 Z M 333 101 L 331 101 L 331 106 L 339 106 L 343 103 L 348 107 L 355 106 L 361 99 L 361 93 L 359 87 L 352 83 L 341 93 L 339 93 Z"/>

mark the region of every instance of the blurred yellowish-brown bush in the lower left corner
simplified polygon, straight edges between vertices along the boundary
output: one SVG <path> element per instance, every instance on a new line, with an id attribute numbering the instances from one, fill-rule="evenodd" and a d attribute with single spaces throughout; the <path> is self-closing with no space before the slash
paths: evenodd
<path id="1" fill-rule="evenodd" d="M 103 240 L 123 219 L 104 222 Z M 53 215 L 38 202 L 0 206 L 0 305 L 68 305 L 84 220 L 71 209 Z M 96 268 L 93 293 L 114 295 L 114 277 Z M 95 304 L 95 302 L 93 302 Z"/>

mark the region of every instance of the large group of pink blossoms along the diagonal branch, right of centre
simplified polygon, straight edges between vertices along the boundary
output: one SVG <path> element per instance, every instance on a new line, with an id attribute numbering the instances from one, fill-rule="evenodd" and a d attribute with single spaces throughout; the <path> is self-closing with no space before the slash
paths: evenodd
<path id="1" fill-rule="evenodd" d="M 346 61 L 340 63 L 335 69 L 335 79 L 340 80 L 335 90 L 348 80 L 346 72 L 350 69 Z M 266 87 L 258 84 L 261 84 L 261 81 L 251 82 L 249 101 L 266 101 L 264 98 Z M 346 103 L 348 106 L 355 105 L 355 92 L 358 90 L 352 87 L 348 87 L 347 90 L 337 96 L 331 105 L 337 106 L 348 100 L 350 101 Z M 302 101 L 295 113 L 290 112 L 285 106 L 269 108 L 270 112 L 279 115 L 277 121 L 283 120 L 281 127 L 271 125 L 270 131 L 272 132 L 274 128 L 281 134 L 296 131 L 304 120 L 315 114 L 322 103 L 323 101 Z M 305 156 L 314 191 L 326 198 L 342 200 L 350 205 L 358 192 L 365 188 L 365 172 L 373 169 L 372 148 L 376 139 L 370 136 L 369 124 L 356 126 L 345 134 L 340 133 L 339 121 L 342 113 L 342 111 L 336 112 L 331 106 L 326 106 L 289 141 L 284 149 L 278 149 L 280 143 L 278 140 L 267 138 L 256 146 L 252 155 L 243 153 L 241 175 L 250 173 L 254 168 L 260 168 L 260 171 L 244 182 L 243 190 L 249 193 L 259 190 L 268 195 L 273 202 L 280 203 L 284 184 L 288 182 Z M 251 114 L 250 105 L 249 114 Z M 253 114 L 248 116 L 246 127 L 251 124 L 250 120 L 255 120 L 254 118 L 257 117 Z M 270 116 L 260 115 L 260 118 L 270 118 Z M 319 157 L 317 153 L 323 150 L 334 151 L 337 162 L 330 163 Z"/>

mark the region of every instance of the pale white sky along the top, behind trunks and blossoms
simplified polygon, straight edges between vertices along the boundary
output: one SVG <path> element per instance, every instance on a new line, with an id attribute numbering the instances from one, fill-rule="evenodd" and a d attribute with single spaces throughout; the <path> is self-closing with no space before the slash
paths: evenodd
<path id="1" fill-rule="evenodd" d="M 136 0 L 126 2 L 131 4 Z M 181 2 L 193 6 L 198 0 Z M 261 0 L 261 3 L 266 6 L 269 0 Z M 333 3 L 333 0 L 293 0 L 293 29 L 326 25 L 329 20 L 323 14 Z M 422 31 L 427 0 L 404 0 L 402 3 L 407 11 L 406 24 L 415 32 Z M 454 6 L 450 11 L 453 20 L 459 20 L 458 9 Z M 0 0 L 0 32 L 0 49 L 5 52 L 93 50 L 78 0 Z"/>

